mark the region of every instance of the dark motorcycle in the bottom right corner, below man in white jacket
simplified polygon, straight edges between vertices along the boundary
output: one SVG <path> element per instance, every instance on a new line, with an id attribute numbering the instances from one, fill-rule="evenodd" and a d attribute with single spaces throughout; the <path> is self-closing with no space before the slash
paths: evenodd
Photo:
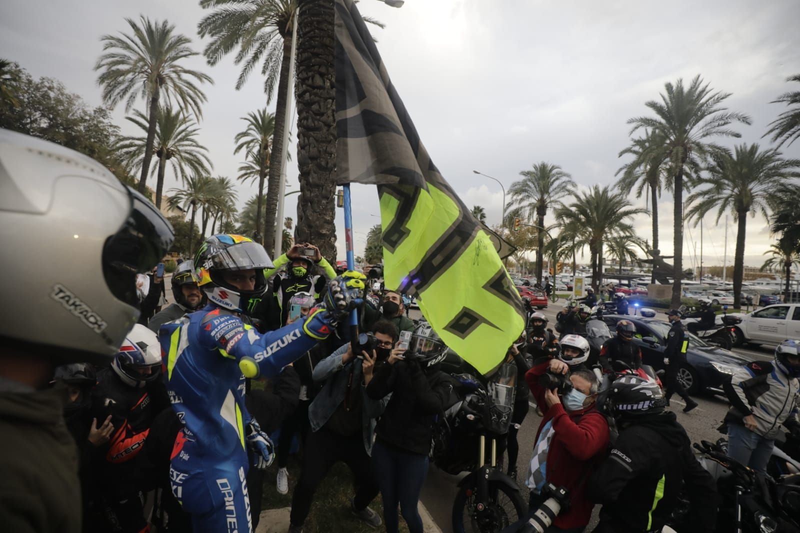
<path id="1" fill-rule="evenodd" d="M 720 441 L 703 440 L 694 443 L 694 448 L 698 461 L 714 478 L 722 497 L 716 531 L 800 531 L 800 475 L 773 479 L 754 471 L 726 455 L 727 449 Z M 682 531 L 685 511 L 686 507 L 682 507 L 676 512 L 670 524 L 678 531 Z"/>

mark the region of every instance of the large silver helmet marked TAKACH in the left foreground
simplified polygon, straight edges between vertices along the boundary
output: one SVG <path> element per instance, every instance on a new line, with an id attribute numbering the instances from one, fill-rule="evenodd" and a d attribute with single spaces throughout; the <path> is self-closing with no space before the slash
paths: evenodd
<path id="1" fill-rule="evenodd" d="M 139 317 L 136 274 L 169 250 L 150 200 L 74 150 L 0 129 L 0 337 L 56 364 L 110 363 Z M 10 255 L 9 255 L 10 254 Z"/>

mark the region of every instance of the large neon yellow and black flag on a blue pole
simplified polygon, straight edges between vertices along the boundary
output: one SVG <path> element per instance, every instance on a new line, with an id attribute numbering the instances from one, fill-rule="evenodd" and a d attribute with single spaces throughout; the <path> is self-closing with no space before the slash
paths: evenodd
<path id="1" fill-rule="evenodd" d="M 500 258 L 514 248 L 439 174 L 353 0 L 336 0 L 335 31 L 338 183 L 378 186 L 386 287 L 417 295 L 447 346 L 486 373 L 525 327 Z"/>

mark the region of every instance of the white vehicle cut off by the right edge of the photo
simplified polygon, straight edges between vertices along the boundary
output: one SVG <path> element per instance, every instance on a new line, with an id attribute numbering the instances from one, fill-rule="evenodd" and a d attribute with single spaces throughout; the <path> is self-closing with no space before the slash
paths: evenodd
<path id="1" fill-rule="evenodd" d="M 744 343 L 778 344 L 786 339 L 800 339 L 800 304 L 781 303 L 762 307 L 751 313 L 731 313 L 742 318 L 735 328 L 734 346 Z"/>

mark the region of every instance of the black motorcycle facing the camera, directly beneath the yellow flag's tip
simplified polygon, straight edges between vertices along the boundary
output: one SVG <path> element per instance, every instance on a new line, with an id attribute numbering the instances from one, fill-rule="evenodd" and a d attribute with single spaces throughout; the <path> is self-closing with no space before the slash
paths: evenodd
<path id="1" fill-rule="evenodd" d="M 497 443 L 508 432 L 514 409 L 517 368 L 504 363 L 483 380 L 458 355 L 448 354 L 442 371 L 462 383 L 464 398 L 434 427 L 431 459 L 451 475 L 469 472 L 458 483 L 452 511 L 455 533 L 497 533 L 527 512 L 517 483 L 498 465 Z M 457 374 L 458 371 L 468 371 Z M 519 377 L 521 379 L 521 377 Z M 501 458 L 502 459 L 502 458 Z"/>

